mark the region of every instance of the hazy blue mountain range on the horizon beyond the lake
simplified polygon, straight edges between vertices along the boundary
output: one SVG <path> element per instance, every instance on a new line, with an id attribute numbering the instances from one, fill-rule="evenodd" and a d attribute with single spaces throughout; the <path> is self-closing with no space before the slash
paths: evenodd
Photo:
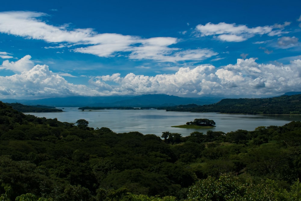
<path id="1" fill-rule="evenodd" d="M 2 102 L 21 103 L 24 105 L 47 105 L 53 107 L 159 107 L 197 104 L 205 105 L 220 101 L 222 97 L 185 98 L 165 94 L 148 94 L 141 96 L 76 96 L 48 98 L 37 100 L 4 99 Z"/>

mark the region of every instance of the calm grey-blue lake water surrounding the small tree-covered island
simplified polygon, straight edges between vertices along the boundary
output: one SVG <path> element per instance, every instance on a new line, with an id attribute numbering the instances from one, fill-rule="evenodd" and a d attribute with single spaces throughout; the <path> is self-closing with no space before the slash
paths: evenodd
<path id="1" fill-rule="evenodd" d="M 188 136 L 194 131 L 206 133 L 207 130 L 225 133 L 238 129 L 254 130 L 259 126 L 282 126 L 290 121 L 301 121 L 301 115 L 234 115 L 214 112 L 193 113 L 165 110 L 95 110 L 81 111 L 77 108 L 58 108 L 65 112 L 24 113 L 37 117 L 57 118 L 58 121 L 75 123 L 85 119 L 89 127 L 107 127 L 116 133 L 138 131 L 143 134 L 162 135 L 162 132 L 181 133 Z M 212 119 L 216 127 L 209 129 L 185 129 L 171 126 L 183 125 L 196 118 Z"/>

